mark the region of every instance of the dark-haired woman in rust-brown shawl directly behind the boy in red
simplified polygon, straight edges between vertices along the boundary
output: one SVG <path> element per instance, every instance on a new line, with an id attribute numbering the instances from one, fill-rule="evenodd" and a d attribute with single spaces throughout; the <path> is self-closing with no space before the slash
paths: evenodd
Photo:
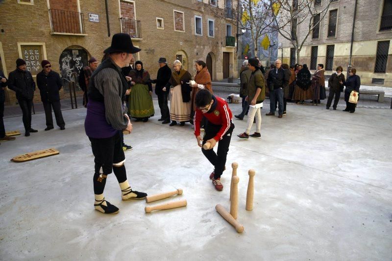
<path id="1" fill-rule="evenodd" d="M 193 117 L 195 115 L 195 110 L 196 110 L 196 104 L 195 104 L 195 97 L 196 93 L 200 89 L 208 89 L 212 93 L 212 87 L 211 87 L 211 75 L 210 72 L 208 71 L 207 65 L 201 61 L 197 60 L 195 62 L 195 68 L 196 68 L 196 75 L 195 75 L 195 84 L 192 86 L 192 95 L 191 95 L 191 103 L 192 103 L 192 108 L 191 108 L 191 118 L 190 118 L 190 123 L 193 125 Z M 202 127 L 204 126 L 204 121 L 202 120 Z"/>

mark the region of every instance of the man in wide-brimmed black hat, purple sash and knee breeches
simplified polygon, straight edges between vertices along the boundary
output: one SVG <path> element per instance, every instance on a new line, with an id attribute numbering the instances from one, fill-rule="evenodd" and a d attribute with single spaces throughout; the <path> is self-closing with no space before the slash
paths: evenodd
<path id="1" fill-rule="evenodd" d="M 131 189 L 125 171 L 125 155 L 119 131 L 132 131 L 132 124 L 123 106 L 127 82 L 121 68 L 128 65 L 134 53 L 128 34 L 113 35 L 112 44 L 104 53 L 104 60 L 94 71 L 88 89 L 89 102 L 84 127 L 91 141 L 95 156 L 93 178 L 96 210 L 105 214 L 117 214 L 119 209 L 105 200 L 103 190 L 108 174 L 114 172 L 119 182 L 123 200 L 143 199 L 146 193 Z"/>

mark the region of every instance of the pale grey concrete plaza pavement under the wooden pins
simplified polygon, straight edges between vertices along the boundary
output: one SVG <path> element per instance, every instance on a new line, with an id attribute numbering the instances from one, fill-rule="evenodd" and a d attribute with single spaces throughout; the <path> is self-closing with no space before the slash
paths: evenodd
<path id="1" fill-rule="evenodd" d="M 114 174 L 105 198 L 117 215 L 94 210 L 94 158 L 84 133 L 86 109 L 64 110 L 66 130 L 44 131 L 32 116 L 30 137 L 0 145 L 0 260 L 391 260 L 392 110 L 354 114 L 288 104 L 287 116 L 265 116 L 262 138 L 240 140 L 235 129 L 224 189 L 213 188 L 210 163 L 190 125 L 162 125 L 155 116 L 133 123 L 125 142 L 131 186 L 150 195 L 182 188 L 170 199 L 183 208 L 145 214 L 147 203 L 122 201 Z M 240 104 L 230 104 L 233 114 Z M 21 117 L 4 119 L 20 130 Z M 253 125 L 252 131 L 254 131 Z M 55 148 L 59 155 L 24 163 L 18 154 Z M 215 211 L 229 210 L 232 162 L 239 163 L 243 234 Z M 253 211 L 245 210 L 248 169 L 255 169 Z"/>

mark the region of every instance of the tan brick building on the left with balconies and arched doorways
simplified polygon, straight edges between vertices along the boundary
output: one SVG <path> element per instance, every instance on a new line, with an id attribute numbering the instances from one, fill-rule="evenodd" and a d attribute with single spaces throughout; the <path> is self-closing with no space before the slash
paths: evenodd
<path id="1" fill-rule="evenodd" d="M 237 77 L 235 21 L 225 18 L 226 1 L 110 0 L 108 14 L 105 1 L 2 1 L 0 69 L 7 75 L 21 57 L 35 76 L 47 59 L 67 87 L 91 56 L 101 59 L 113 34 L 124 32 L 142 49 L 135 58 L 152 78 L 159 57 L 166 57 L 170 66 L 181 60 L 192 75 L 194 61 L 203 60 L 213 80 Z M 67 88 L 62 96 L 66 93 Z M 6 90 L 6 104 L 15 102 L 15 93 Z"/>

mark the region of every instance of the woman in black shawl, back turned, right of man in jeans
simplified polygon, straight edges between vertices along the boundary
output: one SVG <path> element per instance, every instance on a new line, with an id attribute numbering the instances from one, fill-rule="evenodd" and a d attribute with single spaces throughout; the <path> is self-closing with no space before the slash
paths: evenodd
<path id="1" fill-rule="evenodd" d="M 293 100 L 295 103 L 301 101 L 301 103 L 304 104 L 305 100 L 313 99 L 313 92 L 310 88 L 310 77 L 308 65 L 303 65 L 302 69 L 297 73 L 297 80 L 294 87 Z"/>

